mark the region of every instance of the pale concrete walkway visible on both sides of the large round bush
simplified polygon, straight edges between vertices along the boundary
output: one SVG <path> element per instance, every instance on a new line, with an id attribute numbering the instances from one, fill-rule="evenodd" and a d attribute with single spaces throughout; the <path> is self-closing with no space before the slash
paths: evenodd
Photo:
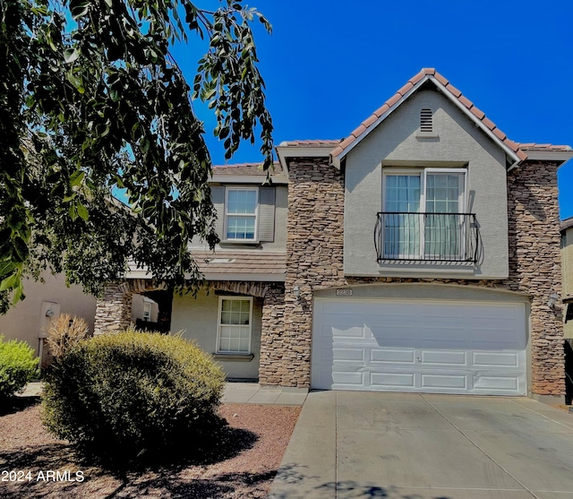
<path id="1" fill-rule="evenodd" d="M 39 396 L 43 383 L 28 383 L 21 397 Z M 259 383 L 226 383 L 223 403 L 302 406 L 307 390 L 300 388 L 261 387 Z"/>

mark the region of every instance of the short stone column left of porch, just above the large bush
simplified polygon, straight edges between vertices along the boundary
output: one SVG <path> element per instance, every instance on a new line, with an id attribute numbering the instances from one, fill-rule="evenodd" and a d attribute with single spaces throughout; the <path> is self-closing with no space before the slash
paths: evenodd
<path id="1" fill-rule="evenodd" d="M 132 322 L 132 292 L 124 284 L 108 284 L 96 304 L 94 334 L 124 331 Z"/>

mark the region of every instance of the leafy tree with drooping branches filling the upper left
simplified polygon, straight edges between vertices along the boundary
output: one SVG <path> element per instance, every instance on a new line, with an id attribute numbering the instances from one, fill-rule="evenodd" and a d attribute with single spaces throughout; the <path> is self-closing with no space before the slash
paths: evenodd
<path id="1" fill-rule="evenodd" d="M 230 159 L 260 133 L 272 164 L 252 22 L 242 0 L 0 0 L 0 298 L 49 268 L 98 294 L 126 262 L 182 288 L 192 237 L 217 242 L 211 160 L 192 99 Z M 192 90 L 170 53 L 209 42 Z M 192 96 L 190 95 L 192 91 Z M 110 195 L 126 189 L 131 208 Z"/>

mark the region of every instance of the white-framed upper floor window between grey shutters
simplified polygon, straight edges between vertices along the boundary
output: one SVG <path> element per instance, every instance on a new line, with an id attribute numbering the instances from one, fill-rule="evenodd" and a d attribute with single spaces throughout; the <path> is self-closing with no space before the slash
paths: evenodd
<path id="1" fill-rule="evenodd" d="M 227 188 L 225 203 L 226 239 L 255 241 L 257 239 L 258 189 Z"/>

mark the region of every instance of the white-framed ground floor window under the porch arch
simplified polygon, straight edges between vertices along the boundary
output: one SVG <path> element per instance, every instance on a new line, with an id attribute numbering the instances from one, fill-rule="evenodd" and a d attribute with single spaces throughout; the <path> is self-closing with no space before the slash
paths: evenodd
<path id="1" fill-rule="evenodd" d="M 251 353 L 252 297 L 219 297 L 218 353 Z"/>

